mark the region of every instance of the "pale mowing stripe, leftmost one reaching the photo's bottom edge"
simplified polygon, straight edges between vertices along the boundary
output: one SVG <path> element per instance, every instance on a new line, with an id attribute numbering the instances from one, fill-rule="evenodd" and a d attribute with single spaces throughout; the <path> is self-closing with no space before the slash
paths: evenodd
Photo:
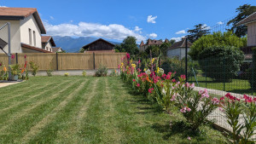
<path id="1" fill-rule="evenodd" d="M 79 88 L 75 89 L 72 94 L 67 95 L 67 98 L 64 101 L 61 101 L 61 103 L 55 107 L 55 109 L 52 110 L 44 119 L 42 119 L 38 124 L 33 126 L 29 132 L 26 133 L 26 135 L 22 138 L 22 141 L 29 141 L 32 137 L 40 133 L 41 130 L 44 129 L 44 127 L 55 120 L 55 116 L 58 112 L 60 112 L 64 107 L 67 106 L 67 104 L 73 99 L 73 96 L 78 95 L 79 91 L 84 88 L 85 81 L 79 85 Z"/>

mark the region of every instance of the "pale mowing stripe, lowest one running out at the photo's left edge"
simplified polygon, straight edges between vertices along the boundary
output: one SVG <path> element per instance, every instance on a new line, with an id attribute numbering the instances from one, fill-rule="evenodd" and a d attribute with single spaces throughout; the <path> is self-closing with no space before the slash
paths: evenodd
<path id="1" fill-rule="evenodd" d="M 68 88 L 68 85 L 70 81 L 66 81 L 66 83 L 61 83 L 59 85 L 57 85 L 58 87 L 60 87 L 62 90 L 60 91 L 60 93 L 62 91 L 64 91 L 65 89 Z M 74 83 L 73 83 L 74 84 Z M 57 90 L 57 89 L 56 89 Z M 40 105 L 44 105 L 45 103 L 55 99 L 58 96 L 58 94 L 52 95 L 50 96 L 48 99 L 44 99 L 44 101 L 37 101 L 37 103 L 35 103 L 35 105 L 33 105 L 32 107 L 28 107 L 25 109 L 21 109 L 21 111 L 19 111 L 17 114 L 13 114 L 13 115 L 9 115 L 9 120 L 7 121 L 3 121 L 4 119 L 1 118 L 1 124 L 0 124 L 0 131 L 5 130 L 7 127 L 9 127 L 9 125 L 11 124 L 15 124 L 15 121 L 19 120 L 19 118 L 26 116 L 28 113 L 31 113 L 31 111 L 40 106 Z M 3 123 L 4 122 L 4 123 Z M 4 125 L 4 126 L 3 126 Z M 3 126 L 3 127 L 2 127 Z"/>

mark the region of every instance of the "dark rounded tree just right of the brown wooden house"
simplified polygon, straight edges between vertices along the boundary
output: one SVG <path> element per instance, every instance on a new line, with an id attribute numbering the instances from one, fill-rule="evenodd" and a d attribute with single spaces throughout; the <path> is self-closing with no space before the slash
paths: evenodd
<path id="1" fill-rule="evenodd" d="M 131 37 L 131 36 L 125 37 L 123 43 L 121 43 L 121 48 L 125 49 L 125 52 L 131 55 L 136 55 L 139 52 L 136 41 L 137 41 L 136 37 Z"/>

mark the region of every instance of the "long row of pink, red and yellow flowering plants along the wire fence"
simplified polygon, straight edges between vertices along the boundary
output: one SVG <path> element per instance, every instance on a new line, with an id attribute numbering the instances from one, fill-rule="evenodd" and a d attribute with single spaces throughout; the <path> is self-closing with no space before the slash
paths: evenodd
<path id="1" fill-rule="evenodd" d="M 177 107 L 191 130 L 199 130 L 202 124 L 207 124 L 207 116 L 219 107 L 232 127 L 228 141 L 253 143 L 251 138 L 256 128 L 255 98 L 244 95 L 245 101 L 241 101 L 227 94 L 218 99 L 209 95 L 207 89 L 195 92 L 195 84 L 186 83 L 184 75 L 175 79 L 176 72 L 165 74 L 159 68 L 158 60 L 151 59 L 145 66 L 142 71 L 139 68 L 140 61 L 133 63 L 127 54 L 119 65 L 120 78 L 131 84 L 138 93 L 147 96 L 148 100 L 157 102 L 166 112 L 170 113 L 171 107 Z M 243 111 L 242 107 L 245 108 Z M 238 124 L 239 115 L 243 115 L 245 124 Z"/>

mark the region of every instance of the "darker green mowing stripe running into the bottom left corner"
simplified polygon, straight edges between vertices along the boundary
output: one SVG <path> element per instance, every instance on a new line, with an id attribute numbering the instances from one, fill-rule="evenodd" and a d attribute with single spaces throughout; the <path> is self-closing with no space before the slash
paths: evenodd
<path id="1" fill-rule="evenodd" d="M 7 129 L 1 131 L 2 135 L 0 135 L 0 141 L 5 141 L 9 143 L 10 140 L 17 141 L 17 139 L 21 139 L 22 136 L 26 135 L 26 132 L 28 132 L 32 128 L 32 126 L 38 124 L 44 117 L 49 114 L 49 112 L 52 112 L 52 110 L 57 107 L 61 103 L 61 101 L 64 101 L 67 95 L 70 95 L 72 93 L 72 90 L 78 87 L 82 81 L 83 80 L 79 80 L 77 82 L 73 82 L 73 84 L 67 84 L 69 85 L 67 89 L 59 93 L 58 96 L 55 97 L 55 99 L 51 101 L 46 100 L 47 102 L 45 102 L 44 104 L 33 108 L 32 111 L 30 111 L 29 113 L 26 112 L 23 117 L 16 119 L 14 124 L 10 124 Z M 54 90 L 61 89 L 62 88 L 60 87 L 53 89 L 52 93 L 55 92 Z M 50 97 L 50 94 L 48 94 L 47 97 Z"/>

